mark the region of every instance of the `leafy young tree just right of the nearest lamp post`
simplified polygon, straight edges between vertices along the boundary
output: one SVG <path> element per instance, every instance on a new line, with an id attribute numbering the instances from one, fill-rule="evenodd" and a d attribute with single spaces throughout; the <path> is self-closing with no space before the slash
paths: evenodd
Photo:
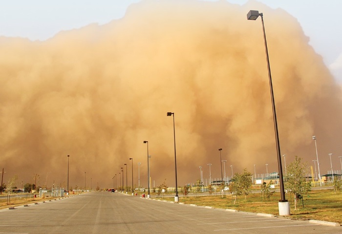
<path id="1" fill-rule="evenodd" d="M 311 189 L 311 183 L 306 182 L 305 175 L 307 174 L 308 165 L 302 163 L 301 158 L 296 155 L 295 161 L 287 167 L 287 176 L 284 176 L 284 187 L 289 190 L 295 197 L 295 210 L 297 210 L 297 200 L 302 198 L 302 195 L 308 194 Z"/>

